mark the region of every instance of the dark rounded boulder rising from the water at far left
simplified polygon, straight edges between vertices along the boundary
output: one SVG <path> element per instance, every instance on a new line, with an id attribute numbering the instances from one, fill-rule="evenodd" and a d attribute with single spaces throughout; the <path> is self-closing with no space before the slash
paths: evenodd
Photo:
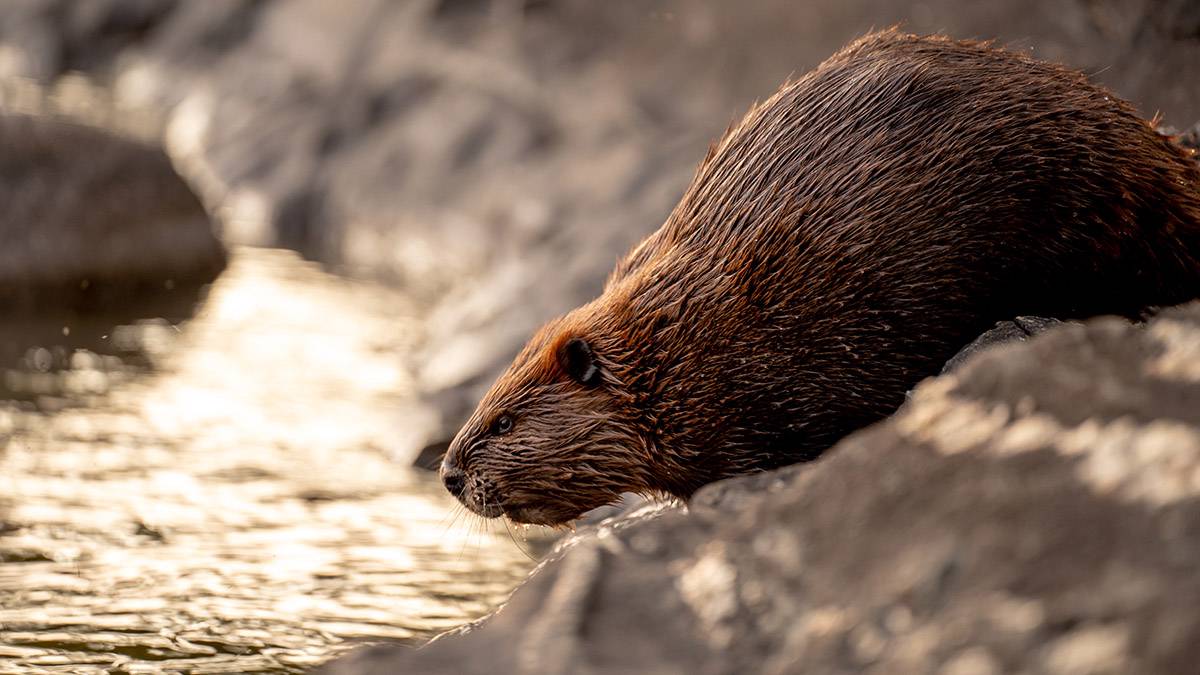
<path id="1" fill-rule="evenodd" d="M 224 249 L 162 150 L 0 114 L 0 310 L 126 301 L 211 281 Z"/>

